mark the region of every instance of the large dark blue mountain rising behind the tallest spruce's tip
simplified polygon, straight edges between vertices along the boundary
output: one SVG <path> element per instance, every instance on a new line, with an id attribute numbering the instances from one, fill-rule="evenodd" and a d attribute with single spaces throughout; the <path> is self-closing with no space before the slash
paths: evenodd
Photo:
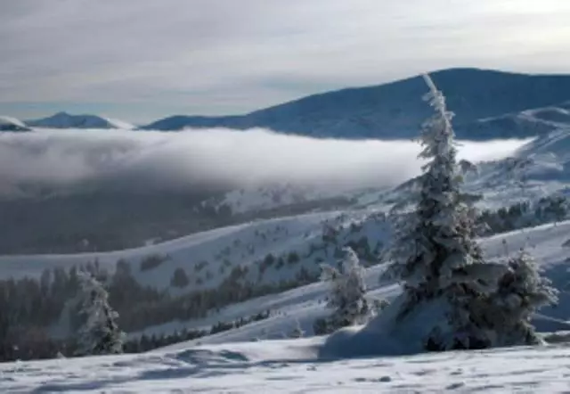
<path id="1" fill-rule="evenodd" d="M 486 140 L 542 135 L 542 121 L 567 123 L 570 76 L 535 76 L 491 70 L 452 69 L 432 74 L 456 113 L 460 139 Z M 386 85 L 314 94 L 240 116 L 173 116 L 143 129 L 266 127 L 283 133 L 335 138 L 407 139 L 417 134 L 429 109 L 421 102 L 421 78 Z M 550 110 L 555 106 L 554 110 Z M 544 108 L 533 118 L 521 111 Z M 539 121 L 537 121 L 537 119 Z"/>

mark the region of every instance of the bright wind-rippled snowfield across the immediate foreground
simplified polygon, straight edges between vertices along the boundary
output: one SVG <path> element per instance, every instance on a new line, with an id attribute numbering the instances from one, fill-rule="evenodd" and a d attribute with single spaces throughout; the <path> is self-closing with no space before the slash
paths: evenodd
<path id="1" fill-rule="evenodd" d="M 120 393 L 440 393 L 570 390 L 567 345 L 318 360 L 321 338 L 0 365 L 0 390 Z"/>

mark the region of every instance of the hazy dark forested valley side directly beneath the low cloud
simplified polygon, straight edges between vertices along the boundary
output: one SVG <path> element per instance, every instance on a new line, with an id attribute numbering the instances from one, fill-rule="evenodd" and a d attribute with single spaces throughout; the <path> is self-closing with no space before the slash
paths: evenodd
<path id="1" fill-rule="evenodd" d="M 22 186 L 23 187 L 23 186 Z M 193 185 L 191 191 L 63 193 L 22 190 L 26 198 L 3 199 L 0 218 L 10 228 L 0 237 L 0 254 L 75 253 L 123 250 L 258 218 L 338 209 L 346 198 L 299 201 L 244 213 L 204 203 L 229 190 Z M 46 195 L 51 198 L 45 198 Z M 181 220 L 180 218 L 184 218 Z"/>

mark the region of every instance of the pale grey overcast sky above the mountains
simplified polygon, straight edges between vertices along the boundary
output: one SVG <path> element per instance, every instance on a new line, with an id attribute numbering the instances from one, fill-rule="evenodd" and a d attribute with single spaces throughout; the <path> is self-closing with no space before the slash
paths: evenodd
<path id="1" fill-rule="evenodd" d="M 473 66 L 570 72 L 570 0 L 0 0 L 0 114 L 145 122 Z"/>

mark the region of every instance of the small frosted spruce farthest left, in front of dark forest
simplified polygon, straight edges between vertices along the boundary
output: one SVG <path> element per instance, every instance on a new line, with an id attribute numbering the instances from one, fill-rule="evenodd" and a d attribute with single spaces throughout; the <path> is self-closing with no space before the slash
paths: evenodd
<path id="1" fill-rule="evenodd" d="M 77 332 L 77 356 L 123 352 L 125 333 L 117 325 L 118 313 L 110 308 L 108 293 L 92 275 L 80 273 L 78 308 L 82 326 Z"/>

